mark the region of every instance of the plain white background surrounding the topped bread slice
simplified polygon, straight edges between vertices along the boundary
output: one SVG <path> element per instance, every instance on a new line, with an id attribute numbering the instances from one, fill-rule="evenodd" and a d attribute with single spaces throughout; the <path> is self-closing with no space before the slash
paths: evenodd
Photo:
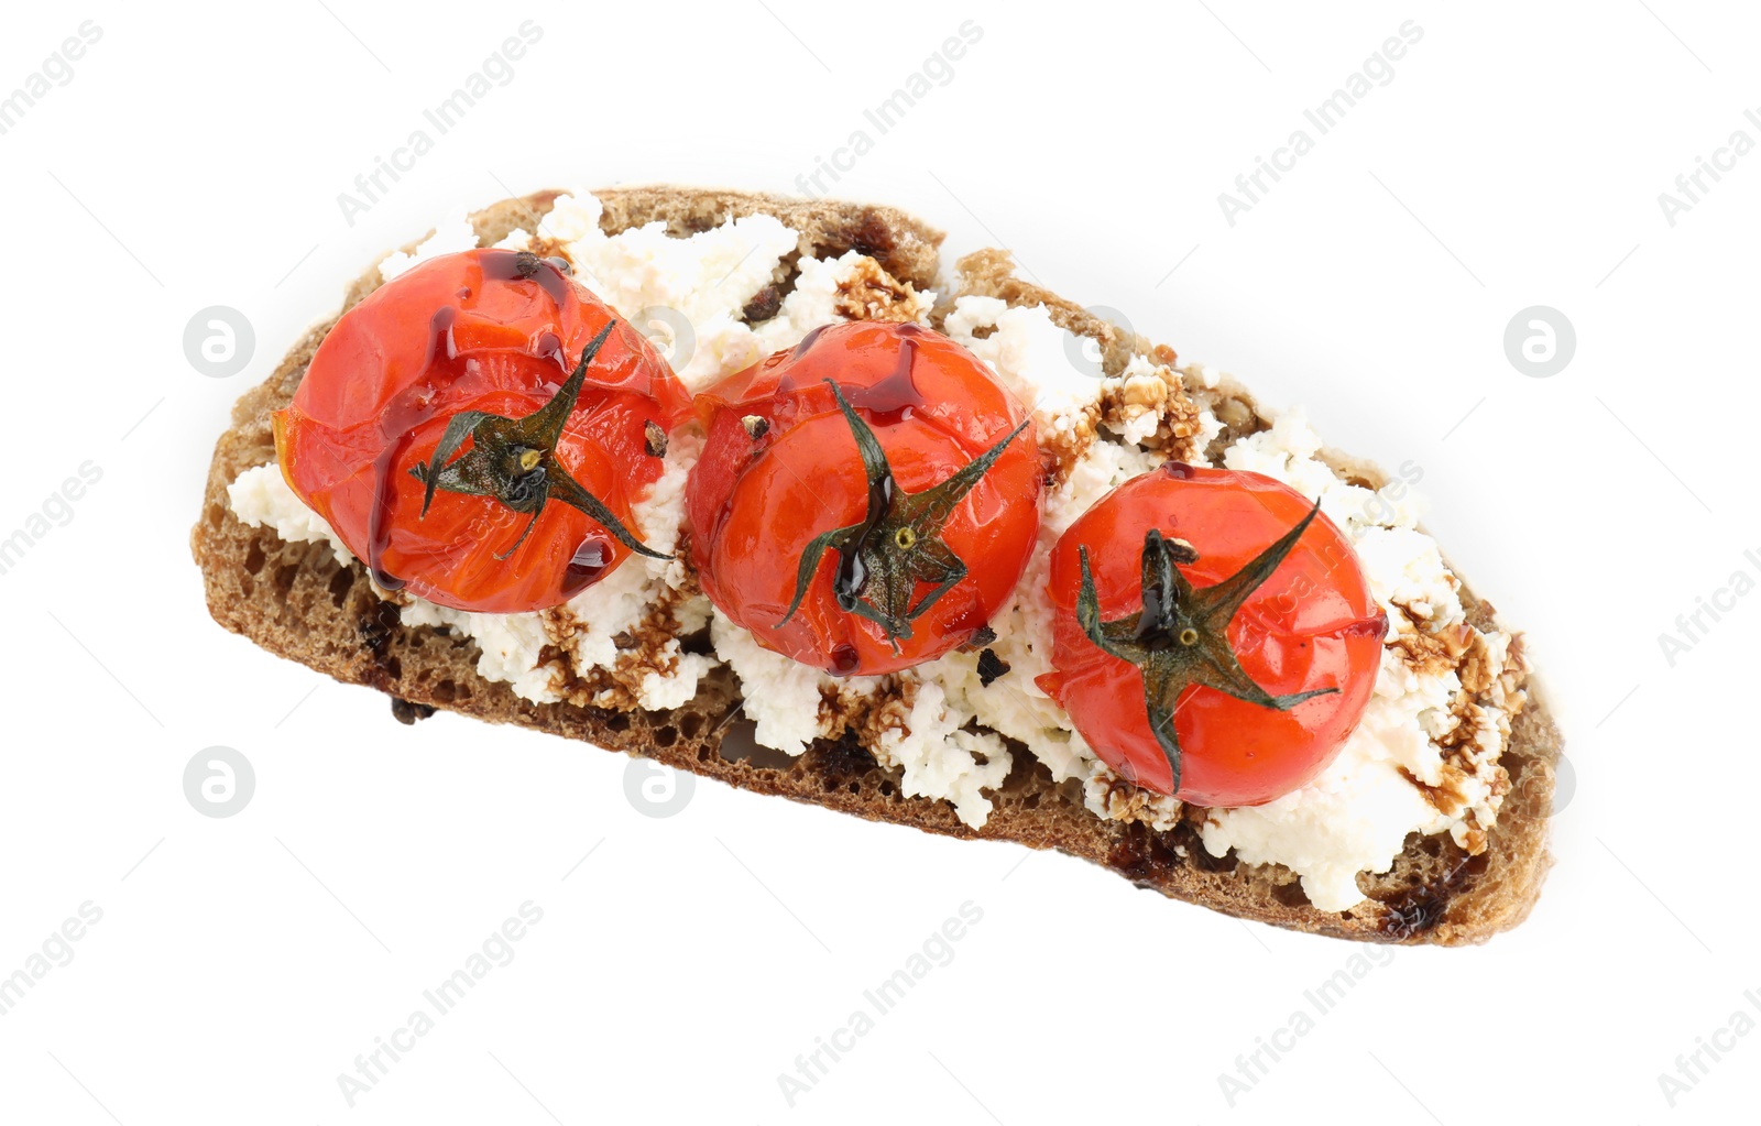
<path id="1" fill-rule="evenodd" d="M 9 7 L 0 92 L 83 19 L 102 39 L 0 136 L 0 536 L 83 462 L 104 476 L 0 574 L 0 974 L 79 904 L 102 922 L 0 1017 L 0 1119 L 1752 1114 L 1761 1034 L 1673 1108 L 1657 1078 L 1733 1013 L 1761 1020 L 1743 999 L 1761 996 L 1761 597 L 1673 666 L 1659 645 L 1735 571 L 1761 576 L 1761 155 L 1675 226 L 1657 201 L 1733 130 L 1761 141 L 1752 11 L 49 7 Z M 512 81 L 349 226 L 338 194 L 525 19 L 542 39 Z M 983 39 L 953 79 L 879 136 L 863 109 L 965 19 Z M 1219 192 L 1409 19 L 1423 39 L 1395 78 L 1310 127 L 1314 152 L 1231 226 Z M 1527 629 L 1567 733 L 1576 789 L 1530 922 L 1379 953 L 1234 1107 L 1219 1075 L 1358 948 L 710 782 L 645 818 L 622 756 L 449 715 L 398 726 L 382 696 L 204 610 L 187 537 L 213 439 L 379 254 L 548 185 L 796 190 L 858 129 L 873 150 L 838 194 L 914 210 L 956 254 L 1013 247 L 1053 289 L 1307 404 L 1337 446 L 1421 467 L 1430 529 Z M 208 305 L 255 326 L 232 379 L 185 361 Z M 1506 359 L 1530 305 L 1576 326 L 1550 379 Z M 257 777 L 225 819 L 181 784 L 217 744 Z M 349 1108 L 338 1073 L 525 900 L 544 915 L 514 960 Z M 789 1107 L 778 1073 L 965 900 L 983 922 L 954 960 Z"/>

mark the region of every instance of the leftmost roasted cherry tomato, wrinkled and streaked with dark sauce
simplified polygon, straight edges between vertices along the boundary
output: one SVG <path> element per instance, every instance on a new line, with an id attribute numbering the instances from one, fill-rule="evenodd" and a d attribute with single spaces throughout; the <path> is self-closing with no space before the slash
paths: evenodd
<path id="1" fill-rule="evenodd" d="M 516 613 L 653 555 L 630 504 L 689 412 L 666 361 L 564 263 L 470 250 L 343 314 L 275 444 L 380 587 Z"/>

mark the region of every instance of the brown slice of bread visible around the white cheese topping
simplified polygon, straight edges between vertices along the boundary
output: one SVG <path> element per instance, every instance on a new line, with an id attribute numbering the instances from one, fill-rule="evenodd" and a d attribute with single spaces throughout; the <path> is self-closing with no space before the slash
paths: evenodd
<path id="1" fill-rule="evenodd" d="M 539 192 L 490 206 L 474 222 L 483 245 L 512 229 L 542 236 L 541 219 L 558 192 Z M 653 220 L 674 234 L 763 211 L 801 233 L 799 250 L 838 256 L 856 248 L 875 257 L 895 278 L 933 289 L 942 234 L 891 208 L 845 203 L 798 203 L 773 196 L 676 187 L 597 192 L 608 234 Z M 792 259 L 785 259 L 792 268 Z M 1007 254 L 990 250 L 960 263 L 962 293 L 986 294 L 1011 305 L 1046 305 L 1053 321 L 1092 337 L 1109 372 L 1150 344 L 1087 314 L 1037 285 L 1013 277 Z M 379 285 L 379 270 L 356 280 L 345 308 Z M 944 294 L 946 296 L 946 294 Z M 1231 851 L 1212 856 L 1199 841 L 1205 811 L 1189 809 L 1168 832 L 1143 823 L 1097 818 L 1083 805 L 1079 786 L 1058 786 L 1032 754 L 1018 752 L 1006 782 L 991 795 L 995 809 L 983 828 L 963 825 L 947 802 L 907 798 L 898 770 L 882 768 L 856 735 L 819 740 L 807 754 L 787 758 L 759 747 L 740 715 L 740 687 L 717 668 L 699 694 L 671 712 L 611 710 L 571 703 L 539 705 L 507 684 L 477 675 L 477 647 L 442 629 L 407 627 L 398 608 L 380 601 L 359 562 L 340 566 L 322 543 L 287 543 L 273 529 L 252 529 L 227 506 L 227 485 L 243 470 L 275 458 L 271 412 L 287 405 L 313 351 L 335 319 L 299 340 L 261 386 L 232 411 L 232 426 L 215 446 L 208 490 L 190 546 L 215 620 L 278 656 L 299 661 L 347 684 L 393 696 L 409 719 L 447 708 L 493 722 L 516 722 L 599 747 L 645 754 L 741 789 L 782 795 L 872 821 L 909 825 L 951 837 L 1016 841 L 1053 848 L 1120 872 L 1143 888 L 1203 904 L 1240 918 L 1293 930 L 1386 943 L 1479 943 L 1522 922 L 1532 907 L 1551 858 L 1546 818 L 1553 800 L 1558 731 L 1529 685 L 1529 705 L 1511 726 L 1500 765 L 1511 777 L 1486 848 L 1476 856 L 1448 833 L 1407 837 L 1405 853 L 1382 876 L 1363 874 L 1368 895 L 1349 911 L 1321 911 L 1282 865 L 1249 865 Z M 1168 349 L 1160 354 L 1171 356 Z M 1252 398 L 1226 384 L 1233 396 L 1224 439 L 1264 426 Z M 1363 465 L 1351 472 L 1379 485 Z M 1462 589 L 1469 622 L 1490 629 L 1493 610 Z M 414 708 L 410 705 L 416 705 Z"/>

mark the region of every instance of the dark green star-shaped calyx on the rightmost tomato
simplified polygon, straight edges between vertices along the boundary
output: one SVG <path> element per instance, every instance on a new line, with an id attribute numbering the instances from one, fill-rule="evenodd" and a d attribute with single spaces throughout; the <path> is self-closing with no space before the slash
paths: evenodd
<path id="1" fill-rule="evenodd" d="M 1277 712 L 1287 712 L 1305 700 L 1337 693 L 1337 687 L 1273 696 L 1242 668 L 1229 645 L 1229 622 L 1278 564 L 1321 511 L 1321 502 L 1277 543 L 1250 559 L 1240 571 L 1210 587 L 1194 589 L 1178 564 L 1197 562 L 1197 552 L 1183 539 L 1164 537 L 1159 529 L 1143 536 L 1143 610 L 1138 615 L 1101 620 L 1088 548 L 1081 548 L 1083 582 L 1076 596 L 1076 622 L 1102 652 L 1136 664 L 1143 675 L 1143 700 L 1150 731 L 1168 756 L 1173 772 L 1169 793 L 1180 789 L 1180 740 L 1175 735 L 1175 708 L 1192 685 L 1210 687 Z"/>

